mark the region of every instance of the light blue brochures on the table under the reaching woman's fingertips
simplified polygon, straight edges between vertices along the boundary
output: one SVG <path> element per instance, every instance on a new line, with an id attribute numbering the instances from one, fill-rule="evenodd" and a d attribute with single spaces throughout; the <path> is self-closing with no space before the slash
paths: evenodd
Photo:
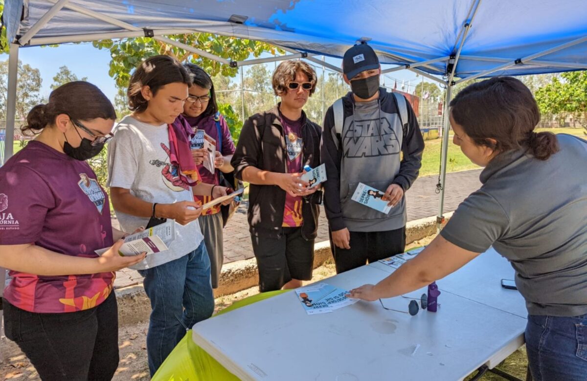
<path id="1" fill-rule="evenodd" d="M 295 292 L 308 315 L 326 314 L 358 301 L 346 297 L 348 290 L 326 283 L 300 287 Z"/>

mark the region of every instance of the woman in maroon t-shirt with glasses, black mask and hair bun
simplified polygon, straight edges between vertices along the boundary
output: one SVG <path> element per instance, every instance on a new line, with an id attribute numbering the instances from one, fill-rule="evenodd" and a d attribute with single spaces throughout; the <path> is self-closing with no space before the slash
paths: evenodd
<path id="1" fill-rule="evenodd" d="M 114 271 L 145 254 L 119 255 L 123 233 L 84 161 L 103 149 L 115 119 L 96 86 L 66 83 L 32 108 L 22 131 L 35 139 L 0 168 L 0 271 L 12 278 L 5 334 L 43 380 L 110 380 L 118 366 Z"/>

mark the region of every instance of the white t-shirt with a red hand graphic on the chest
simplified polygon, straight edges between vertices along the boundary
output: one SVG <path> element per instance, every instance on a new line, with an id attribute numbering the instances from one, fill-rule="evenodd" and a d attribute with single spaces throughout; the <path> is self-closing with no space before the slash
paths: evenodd
<path id="1" fill-rule="evenodd" d="M 154 126 L 125 117 L 114 129 L 108 144 L 109 187 L 130 189 L 131 195 L 156 203 L 193 201 L 191 188 L 180 181 L 178 169 L 170 164 L 167 124 Z M 120 227 L 132 233 L 147 226 L 149 217 L 137 217 L 116 211 Z M 198 220 L 183 226 L 176 223 L 176 239 L 169 250 L 148 255 L 131 267 L 143 270 L 183 257 L 204 239 Z"/>

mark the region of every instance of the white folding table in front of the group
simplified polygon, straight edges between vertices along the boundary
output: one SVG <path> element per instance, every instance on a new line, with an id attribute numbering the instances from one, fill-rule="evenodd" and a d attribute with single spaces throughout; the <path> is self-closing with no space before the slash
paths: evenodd
<path id="1" fill-rule="evenodd" d="M 497 271 L 500 279 L 513 274 L 499 263 L 479 267 L 483 273 Z M 458 273 L 467 271 L 478 270 L 465 266 L 454 280 L 447 277 L 447 290 L 444 280 L 438 281 L 442 294 L 436 313 L 419 311 L 412 317 L 383 309 L 379 301 L 359 301 L 329 314 L 307 315 L 295 292 L 286 292 L 199 322 L 193 339 L 242 380 L 460 380 L 514 352 L 524 342 L 527 322 L 508 312 L 519 310 L 521 297 L 494 301 L 494 292 L 483 294 L 483 288 L 479 295 L 473 289 L 465 296 L 453 292 L 469 278 Z M 387 275 L 377 265 L 363 266 L 322 282 L 350 290 Z M 491 287 L 501 289 L 499 283 Z M 423 292 L 426 288 L 407 296 Z M 383 302 L 407 311 L 409 300 Z"/>

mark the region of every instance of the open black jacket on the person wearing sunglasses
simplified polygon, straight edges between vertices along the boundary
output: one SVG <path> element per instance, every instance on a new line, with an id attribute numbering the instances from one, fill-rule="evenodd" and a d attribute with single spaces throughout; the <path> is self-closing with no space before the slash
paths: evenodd
<path id="1" fill-rule="evenodd" d="M 269 111 L 252 115 L 242 125 L 237 150 L 231 164 L 235 174 L 242 180 L 242 171 L 254 166 L 262 171 L 287 173 L 284 128 L 275 106 Z M 302 111 L 302 165 L 312 168 L 320 165 L 321 127 L 306 118 Z M 322 191 L 303 198 L 302 236 L 306 240 L 316 237 L 318 230 L 319 203 Z M 285 190 L 277 185 L 255 185 L 249 188 L 248 221 L 249 230 L 255 236 L 279 237 L 284 219 Z"/>

